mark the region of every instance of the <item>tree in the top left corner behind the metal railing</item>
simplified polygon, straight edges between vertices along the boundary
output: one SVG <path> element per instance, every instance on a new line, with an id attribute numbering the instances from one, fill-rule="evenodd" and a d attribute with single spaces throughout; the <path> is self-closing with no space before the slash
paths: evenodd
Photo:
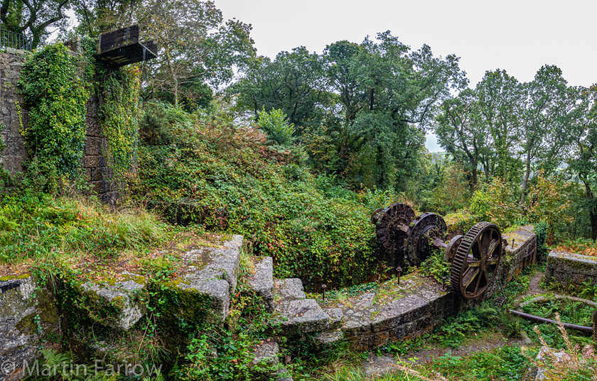
<path id="1" fill-rule="evenodd" d="M 2 28 L 27 35 L 35 49 L 50 34 L 50 26 L 62 29 L 68 26 L 65 11 L 71 6 L 70 0 L 2 0 Z"/>

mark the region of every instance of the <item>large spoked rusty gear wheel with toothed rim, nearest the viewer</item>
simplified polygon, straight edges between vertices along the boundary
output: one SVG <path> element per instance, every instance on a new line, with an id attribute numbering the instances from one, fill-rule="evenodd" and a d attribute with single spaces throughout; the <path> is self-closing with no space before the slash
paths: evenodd
<path id="1" fill-rule="evenodd" d="M 497 274 L 502 248 L 502 233 L 494 223 L 480 222 L 470 228 L 451 265 L 453 291 L 466 299 L 480 297 Z"/>

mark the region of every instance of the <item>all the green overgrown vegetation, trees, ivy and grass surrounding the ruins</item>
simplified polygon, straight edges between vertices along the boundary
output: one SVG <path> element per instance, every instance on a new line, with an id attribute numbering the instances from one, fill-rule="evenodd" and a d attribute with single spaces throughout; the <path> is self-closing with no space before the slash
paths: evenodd
<path id="1" fill-rule="evenodd" d="M 212 1 L 50 3 L 60 3 L 59 23 L 62 6 L 72 4 L 85 53 L 57 43 L 23 65 L 17 106 L 28 111 L 28 123 L 22 112 L 20 121 L 30 158 L 23 174 L 0 172 L 1 270 L 13 277 L 31 270 L 54 293 L 65 336 L 43 340 L 67 343 L 70 335 L 81 346 L 43 350 L 46 364 L 88 361 L 85 346 L 102 346 L 109 360 L 166 364 L 148 379 L 252 380 L 279 370 L 252 363 L 252 348 L 271 340 L 278 324 L 250 292 L 248 267 L 222 323 L 207 323 L 207 301 L 177 292 L 181 252 L 210 244 L 213 233 L 242 234 L 252 250 L 242 263 L 249 254 L 269 255 L 276 277 L 300 277 L 311 290 L 325 283 L 332 301 L 371 291 L 382 299 L 380 280 L 394 269 L 380 260 L 370 216 L 395 201 L 446 216 L 452 235 L 481 220 L 502 231 L 532 224 L 542 255 L 548 246 L 597 254 L 597 88 L 568 86 L 558 67 L 541 67 L 527 83 L 488 71 L 469 87 L 456 55 L 435 57 L 428 45 L 414 50 L 389 31 L 272 60 L 255 56 L 250 25 L 225 21 Z M 51 13 L 44 12 L 24 27 L 35 9 L 23 12 L 22 1 L 2 8 L 3 25 L 28 28 L 33 45 L 57 22 L 34 26 Z M 119 70 L 96 62 L 92 36 L 124 21 L 141 24 L 141 40 L 147 33 L 158 39 L 158 59 Z M 112 208 L 82 197 L 90 180 L 81 165 L 90 96 L 107 137 L 101 154 L 123 196 Z M 427 131 L 446 153 L 426 152 Z M 126 333 L 107 328 L 122 300 L 106 304 L 82 286 L 114 282 L 119 270 L 148 279 L 132 296 L 146 314 Z M 448 275 L 439 252 L 412 270 L 438 282 Z M 529 279 L 506 285 L 510 302 Z M 590 282 L 566 291 L 597 298 Z M 525 311 L 591 323 L 591 308 L 581 304 L 552 300 Z M 40 331 L 39 314 L 28 323 Z M 379 352 L 456 350 L 492 335 L 527 335 L 531 348 L 446 352 L 428 364 L 401 361 L 376 377 L 362 372 L 364 356 L 345 341 L 321 349 L 306 336 L 280 346 L 295 380 L 522 380 L 541 365 L 534 360 L 540 345 L 567 353 L 549 363 L 553 377 L 596 377 L 593 351 L 574 347 L 586 336 L 535 327 L 490 302 Z M 75 380 L 69 372 L 46 378 Z M 102 372 L 95 379 L 117 378 Z"/>

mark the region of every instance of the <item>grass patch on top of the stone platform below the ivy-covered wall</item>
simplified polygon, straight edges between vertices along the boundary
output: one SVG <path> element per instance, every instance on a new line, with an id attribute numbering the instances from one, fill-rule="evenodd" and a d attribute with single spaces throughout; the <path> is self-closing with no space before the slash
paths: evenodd
<path id="1" fill-rule="evenodd" d="M 172 226 L 140 204 L 117 209 L 82 197 L 14 194 L 0 204 L 0 277 L 17 276 L 40 263 L 109 280 L 128 270 L 151 274 L 183 271 L 181 255 L 217 246 L 222 236 L 198 226 Z"/>

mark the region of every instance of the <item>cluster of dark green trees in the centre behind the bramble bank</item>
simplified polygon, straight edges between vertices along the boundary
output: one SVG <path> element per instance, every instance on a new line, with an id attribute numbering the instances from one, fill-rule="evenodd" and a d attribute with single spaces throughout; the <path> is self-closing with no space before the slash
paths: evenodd
<path id="1" fill-rule="evenodd" d="M 257 57 L 232 90 L 256 117 L 281 109 L 309 160 L 350 187 L 402 192 L 414 179 L 434 104 L 466 83 L 458 57 L 412 51 L 389 31 L 361 44 L 338 41 L 322 55 L 304 47 Z"/>

